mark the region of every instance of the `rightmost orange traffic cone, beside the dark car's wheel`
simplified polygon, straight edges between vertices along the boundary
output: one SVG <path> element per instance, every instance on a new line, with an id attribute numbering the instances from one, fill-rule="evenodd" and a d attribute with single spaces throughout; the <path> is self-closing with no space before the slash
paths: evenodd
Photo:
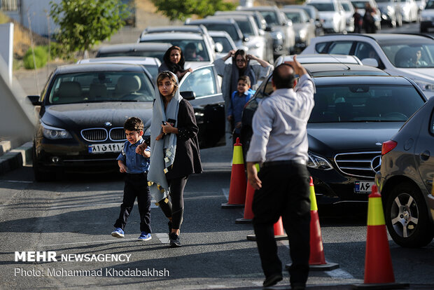
<path id="1" fill-rule="evenodd" d="M 367 236 L 365 254 L 365 283 L 393 283 L 391 251 L 388 248 L 381 195 L 372 186 L 367 204 Z"/>

